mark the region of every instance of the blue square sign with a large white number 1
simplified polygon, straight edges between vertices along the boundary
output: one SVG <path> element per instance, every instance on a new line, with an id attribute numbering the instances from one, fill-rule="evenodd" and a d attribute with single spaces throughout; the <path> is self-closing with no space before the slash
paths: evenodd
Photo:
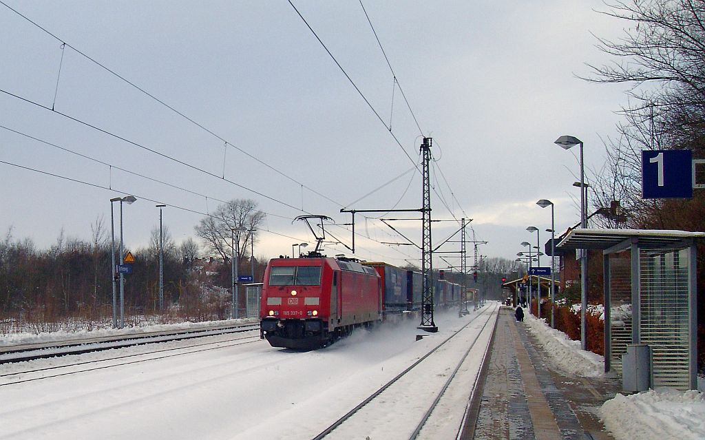
<path id="1" fill-rule="evenodd" d="M 642 198 L 693 197 L 692 166 L 689 149 L 642 151 Z"/>

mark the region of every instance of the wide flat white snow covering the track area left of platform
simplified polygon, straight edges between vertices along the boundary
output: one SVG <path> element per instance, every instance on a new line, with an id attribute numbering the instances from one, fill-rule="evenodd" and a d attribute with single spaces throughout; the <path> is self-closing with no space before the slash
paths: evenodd
<path id="1" fill-rule="evenodd" d="M 105 368 L 101 364 L 90 372 L 0 386 L 0 439 L 310 439 L 477 314 L 496 318 L 497 308 L 491 303 L 460 318 L 457 312 L 436 314 L 439 332 L 424 334 L 427 337 L 421 341 L 415 338 L 418 323 L 409 321 L 375 331 L 355 331 L 350 338 L 307 353 L 272 348 L 258 339 L 149 362 L 131 358 L 129 365 Z M 464 337 L 479 331 L 483 318 L 484 314 L 470 325 L 473 329 L 463 331 Z M 487 341 L 489 335 L 482 343 Z M 459 343 L 467 348 L 467 339 Z M 123 350 L 90 357 L 112 357 Z M 452 365 L 449 357 L 461 353 L 458 346 L 447 350 L 448 356 L 436 357 L 434 367 L 424 374 L 443 379 Z M 464 384 L 472 384 L 479 357 L 470 356 L 475 363 L 468 366 Z M 47 360 L 23 363 L 30 367 L 32 362 L 39 367 L 39 362 Z M 0 365 L 0 376 L 13 372 Z M 0 377 L 0 384 L 34 375 Z M 412 398 L 404 390 L 389 396 L 390 405 L 378 408 L 376 419 L 390 422 L 375 424 L 373 438 L 403 438 L 391 420 L 405 417 L 404 410 L 415 401 L 432 399 L 430 388 L 422 386 Z M 465 396 L 458 396 L 440 414 L 448 426 L 448 420 L 460 420 L 465 412 L 458 402 L 467 402 L 470 389 L 458 389 Z M 429 434 L 424 438 L 439 437 Z"/>

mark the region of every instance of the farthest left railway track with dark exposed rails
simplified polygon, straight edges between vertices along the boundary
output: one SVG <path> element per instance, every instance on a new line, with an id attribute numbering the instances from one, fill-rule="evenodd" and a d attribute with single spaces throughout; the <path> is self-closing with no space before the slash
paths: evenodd
<path id="1" fill-rule="evenodd" d="M 235 324 L 228 326 L 202 327 L 178 331 L 152 331 L 141 334 L 106 336 L 50 343 L 31 343 L 0 347 L 0 365 L 12 362 L 44 359 L 63 355 L 79 355 L 112 348 L 141 346 L 150 343 L 183 341 L 220 334 L 237 334 L 259 329 L 257 324 Z"/>

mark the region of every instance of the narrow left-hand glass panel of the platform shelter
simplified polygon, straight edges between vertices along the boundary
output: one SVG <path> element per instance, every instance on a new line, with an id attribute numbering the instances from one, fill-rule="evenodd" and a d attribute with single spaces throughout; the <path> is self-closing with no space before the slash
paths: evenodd
<path id="1" fill-rule="evenodd" d="M 622 374 L 622 355 L 632 343 L 632 267 L 629 252 L 610 255 L 611 366 Z"/>

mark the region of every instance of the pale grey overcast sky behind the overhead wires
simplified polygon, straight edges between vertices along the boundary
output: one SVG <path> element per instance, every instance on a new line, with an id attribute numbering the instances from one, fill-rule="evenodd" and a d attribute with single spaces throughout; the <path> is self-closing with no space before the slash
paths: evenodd
<path id="1" fill-rule="evenodd" d="M 580 138 L 587 168 L 599 170 L 601 139 L 615 135 L 626 103 L 624 87 L 576 78 L 609 61 L 591 34 L 615 38 L 626 25 L 597 13 L 606 7 L 596 0 L 363 1 L 418 126 L 357 0 L 293 4 L 364 99 L 288 1 L 2 1 L 58 37 L 0 4 L 0 161 L 9 163 L 0 164 L 0 231 L 38 247 L 62 229 L 89 240 L 97 218 L 109 228 L 109 199 L 133 194 L 123 210 L 130 247 L 159 226 L 157 203 L 169 205 L 164 224 L 180 242 L 219 200 L 250 198 L 268 214 L 255 255 L 290 255 L 292 243 L 312 243 L 295 216 L 343 224 L 343 207 L 421 207 L 410 170 L 426 135 L 433 218 L 473 219 L 475 239 L 489 242 L 482 255 L 514 259 L 522 241 L 537 240 L 527 226 L 549 238 L 551 212 L 537 200 L 556 204 L 557 231 L 580 221 L 577 147 L 553 142 Z M 357 257 L 419 259 L 411 246 L 380 244 L 403 238 L 379 220 L 356 220 Z M 420 226 L 398 224 L 419 244 Z M 434 224 L 434 243 L 457 229 Z M 350 244 L 350 231 L 330 230 Z"/>

